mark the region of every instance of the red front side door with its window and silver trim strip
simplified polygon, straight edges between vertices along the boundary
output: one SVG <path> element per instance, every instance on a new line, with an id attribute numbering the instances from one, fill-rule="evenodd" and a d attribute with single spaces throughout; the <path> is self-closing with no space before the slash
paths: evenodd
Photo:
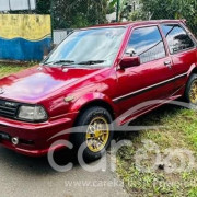
<path id="1" fill-rule="evenodd" d="M 120 113 L 146 101 L 171 96 L 174 88 L 172 61 L 158 25 L 134 28 L 126 48 L 140 57 L 141 65 L 117 70 L 119 96 L 114 102 Z"/>

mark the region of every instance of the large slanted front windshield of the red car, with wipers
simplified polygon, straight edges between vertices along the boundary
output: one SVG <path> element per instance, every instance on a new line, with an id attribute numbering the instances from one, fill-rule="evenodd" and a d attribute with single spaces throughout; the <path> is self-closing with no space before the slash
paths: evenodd
<path id="1" fill-rule="evenodd" d="M 43 62 L 58 67 L 65 66 L 112 66 L 125 27 L 81 30 L 70 34 Z"/>

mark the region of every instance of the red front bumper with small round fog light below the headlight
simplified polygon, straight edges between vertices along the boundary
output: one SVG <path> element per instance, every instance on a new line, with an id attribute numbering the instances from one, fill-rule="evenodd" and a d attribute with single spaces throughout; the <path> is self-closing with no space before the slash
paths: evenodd
<path id="1" fill-rule="evenodd" d="M 25 155 L 45 155 L 50 151 L 50 146 L 55 141 L 60 139 L 69 140 L 70 128 L 77 115 L 78 113 L 67 114 L 61 118 L 40 124 L 23 123 L 0 117 L 0 144 Z M 13 137 L 19 138 L 16 146 L 11 141 Z M 56 149 L 62 147 L 58 144 Z"/>

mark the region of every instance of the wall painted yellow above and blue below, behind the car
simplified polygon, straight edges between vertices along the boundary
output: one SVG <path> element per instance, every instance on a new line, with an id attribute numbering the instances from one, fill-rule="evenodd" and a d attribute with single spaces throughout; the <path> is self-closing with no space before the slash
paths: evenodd
<path id="1" fill-rule="evenodd" d="M 0 14 L 0 59 L 42 60 L 50 47 L 49 15 Z"/>

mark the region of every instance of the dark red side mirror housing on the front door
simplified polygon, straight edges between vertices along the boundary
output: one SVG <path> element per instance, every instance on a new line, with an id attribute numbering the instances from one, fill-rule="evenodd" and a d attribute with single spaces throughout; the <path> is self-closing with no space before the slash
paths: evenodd
<path id="1" fill-rule="evenodd" d="M 140 66 L 140 58 L 139 56 L 136 56 L 136 57 L 125 56 L 121 59 L 119 66 L 121 69 Z"/>

